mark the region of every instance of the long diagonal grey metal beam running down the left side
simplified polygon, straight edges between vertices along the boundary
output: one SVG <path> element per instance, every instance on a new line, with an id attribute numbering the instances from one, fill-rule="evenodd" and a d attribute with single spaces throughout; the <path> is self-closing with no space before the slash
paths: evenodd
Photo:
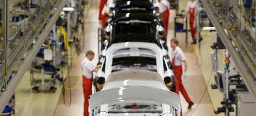
<path id="1" fill-rule="evenodd" d="M 8 0 L 5 0 L 8 1 Z M 66 4 L 65 0 L 58 0 L 60 1 L 60 4 L 58 4 L 58 8 L 55 10 L 55 13 L 51 16 L 48 24 L 46 25 L 45 29 L 42 31 L 42 33 L 39 35 L 38 41 L 34 43 L 33 48 L 27 52 L 27 56 L 24 58 L 23 62 L 21 63 L 19 70 L 17 71 L 17 74 L 12 78 L 12 80 L 9 82 L 6 91 L 3 91 L 0 95 L 0 111 L 3 111 L 4 107 L 8 103 L 9 99 L 15 92 L 16 87 L 20 83 L 21 79 L 23 78 L 25 72 L 30 67 L 30 64 L 32 63 L 33 59 L 37 55 L 37 52 L 39 51 L 41 45 L 46 40 L 46 37 L 48 36 L 51 28 L 59 18 L 59 14 L 61 13 L 63 7 Z"/>

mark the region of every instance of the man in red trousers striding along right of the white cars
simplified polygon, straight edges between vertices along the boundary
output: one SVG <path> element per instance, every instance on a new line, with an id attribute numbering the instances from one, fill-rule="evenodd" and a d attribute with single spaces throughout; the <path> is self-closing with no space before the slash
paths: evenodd
<path id="1" fill-rule="evenodd" d="M 185 55 L 183 53 L 183 51 L 181 50 L 181 48 L 178 46 L 179 42 L 177 41 L 177 39 L 171 39 L 171 57 L 172 57 L 172 63 L 173 63 L 173 70 L 174 70 L 174 75 L 176 77 L 176 94 L 179 94 L 180 92 L 182 93 L 182 95 L 184 96 L 186 102 L 188 103 L 188 109 L 190 109 L 192 107 L 192 105 L 194 105 L 194 103 L 191 101 L 191 99 L 189 98 L 185 87 L 182 84 L 182 76 L 183 78 L 186 77 L 186 71 L 187 71 L 187 62 L 186 62 L 186 58 Z M 183 63 L 184 63 L 184 67 L 185 70 L 183 72 Z"/>

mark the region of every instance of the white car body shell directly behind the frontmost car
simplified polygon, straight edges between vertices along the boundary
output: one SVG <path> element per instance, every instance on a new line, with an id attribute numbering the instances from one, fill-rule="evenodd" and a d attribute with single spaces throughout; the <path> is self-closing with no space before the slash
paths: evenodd
<path id="1" fill-rule="evenodd" d="M 104 77 L 105 80 L 113 71 L 113 59 L 120 57 L 147 57 L 156 59 L 157 73 L 164 79 L 164 77 L 173 76 L 173 72 L 168 68 L 168 60 L 163 56 L 166 55 L 165 50 L 162 50 L 155 43 L 148 42 L 121 42 L 112 44 L 106 52 L 103 53 L 103 65 L 96 74 L 96 77 Z M 165 68 L 166 67 L 166 68 Z M 130 68 L 128 68 L 130 69 Z M 103 71 L 104 70 L 104 71 Z M 125 70 L 125 69 L 123 69 Z"/>

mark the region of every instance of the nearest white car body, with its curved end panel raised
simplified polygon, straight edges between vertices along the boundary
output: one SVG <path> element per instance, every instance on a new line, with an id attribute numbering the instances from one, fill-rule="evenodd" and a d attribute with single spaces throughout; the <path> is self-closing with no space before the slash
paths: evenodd
<path id="1" fill-rule="evenodd" d="M 90 96 L 89 116 L 180 116 L 180 104 L 158 73 L 123 70 Z"/>

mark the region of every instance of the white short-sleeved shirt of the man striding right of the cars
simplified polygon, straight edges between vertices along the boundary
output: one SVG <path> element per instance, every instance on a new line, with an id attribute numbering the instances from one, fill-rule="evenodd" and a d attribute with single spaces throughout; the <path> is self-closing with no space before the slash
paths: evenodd
<path id="1" fill-rule="evenodd" d="M 181 50 L 179 46 L 175 48 L 175 50 L 171 50 L 171 58 L 175 57 L 175 66 L 181 66 L 182 62 L 186 60 L 185 54 Z"/>

